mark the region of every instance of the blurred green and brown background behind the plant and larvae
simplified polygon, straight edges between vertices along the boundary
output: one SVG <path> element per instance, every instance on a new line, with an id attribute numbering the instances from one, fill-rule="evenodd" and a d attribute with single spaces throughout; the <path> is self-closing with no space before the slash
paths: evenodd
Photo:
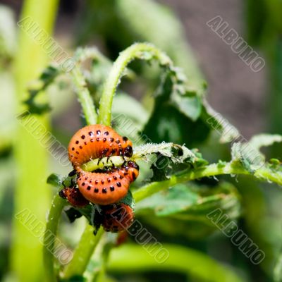
<path id="1" fill-rule="evenodd" d="M 53 172 L 66 175 L 71 171 L 71 166 L 62 167 L 16 119 L 25 109 L 22 102 L 27 99 L 27 87 L 33 85 L 32 81 L 51 60 L 42 47 L 17 26 L 20 18 L 31 16 L 70 56 L 76 47 L 96 46 L 114 61 L 130 44 L 152 42 L 166 51 L 176 66 L 183 68 L 197 94 L 207 94 L 209 104 L 246 139 L 262 132 L 282 134 L 281 0 L 7 0 L 0 4 L 1 281 L 44 281 L 42 244 L 16 220 L 15 214 L 28 208 L 37 219 L 45 221 L 56 192 L 46 184 L 47 177 Z M 221 16 L 264 58 L 266 66 L 262 71 L 253 72 L 206 25 L 215 16 Z M 197 147 L 210 162 L 230 158 L 230 145 L 219 145 L 218 133 L 207 127 L 202 116 L 193 121 L 170 104 L 154 101 L 152 94 L 159 83 L 157 66 L 137 62 L 132 68 L 133 78 L 121 84 L 121 93 L 114 99 L 114 116 L 124 113 L 134 121 L 135 128 L 144 129 L 153 142 L 165 140 Z M 107 73 L 109 62 L 107 65 L 99 61 L 85 73 L 96 104 Z M 202 80 L 207 81 L 207 90 Z M 65 146 L 75 130 L 85 124 L 70 84 L 69 78 L 61 78 L 48 87 L 47 95 L 41 95 L 39 100 L 48 100 L 52 110 L 37 117 Z M 154 102 L 162 108 L 154 112 L 154 118 L 147 123 L 154 111 Z M 157 132 L 156 128 L 161 126 L 174 128 L 171 135 L 166 131 Z M 132 133 L 125 130 L 125 134 Z M 281 145 L 265 151 L 267 157 L 278 159 L 281 152 Z M 148 173 L 144 169 L 140 183 Z M 212 274 L 214 263 L 223 266 L 223 272 L 227 269 L 235 273 L 238 278 L 233 281 L 274 281 L 274 277 L 282 281 L 281 264 L 277 264 L 282 247 L 281 189 L 247 176 L 226 176 L 220 180 L 202 179 L 180 185 L 176 191 L 187 199 L 183 214 L 160 216 L 156 211 L 161 204 L 168 204 L 169 199 L 161 199 L 160 195 L 155 200 L 140 202 L 137 219 L 161 243 L 167 244 L 180 266 L 160 267 L 154 262 L 150 265 L 149 258 L 144 254 L 142 257 L 141 249 L 135 249 L 134 240 L 129 238 L 131 245 L 113 252 L 109 281 L 231 281 L 227 274 L 221 276 L 216 271 Z M 265 252 L 262 264 L 252 264 L 207 220 L 205 215 L 211 207 L 202 204 L 198 209 L 191 200 L 199 195 L 238 221 L 238 226 Z M 169 197 L 173 199 L 174 195 Z M 180 203 L 176 201 L 176 204 Z M 70 224 L 63 215 L 61 240 L 73 248 L 83 226 L 83 219 Z M 197 252 L 192 252 L 194 250 Z M 89 268 L 91 271 L 91 266 Z"/>

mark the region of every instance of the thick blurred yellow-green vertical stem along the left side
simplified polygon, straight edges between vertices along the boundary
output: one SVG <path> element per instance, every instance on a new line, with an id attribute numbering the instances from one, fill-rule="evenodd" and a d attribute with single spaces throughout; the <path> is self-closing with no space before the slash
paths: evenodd
<path id="1" fill-rule="evenodd" d="M 23 1 L 23 11 L 20 19 L 27 18 L 36 23 L 40 29 L 51 35 L 58 0 L 26 0 Z M 35 30 L 30 29 L 32 35 L 25 30 L 18 30 L 18 52 L 14 62 L 16 92 L 18 98 L 17 114 L 26 107 L 23 100 L 27 98 L 27 84 L 35 80 L 47 63 L 48 54 L 42 45 L 32 39 Z M 39 32 L 39 29 L 36 30 Z M 37 124 L 49 128 L 49 121 L 45 116 L 33 116 Z M 19 138 L 20 136 L 20 138 Z M 48 153 L 39 140 L 22 125 L 15 130 L 14 156 L 16 161 L 16 188 L 14 191 L 14 213 L 28 209 L 44 222 L 46 212 L 51 201 L 51 190 L 42 182 L 47 178 Z M 11 245 L 11 271 L 17 281 L 42 281 L 44 276 L 42 243 L 32 234 L 29 228 L 23 226 L 13 217 L 13 240 Z"/>

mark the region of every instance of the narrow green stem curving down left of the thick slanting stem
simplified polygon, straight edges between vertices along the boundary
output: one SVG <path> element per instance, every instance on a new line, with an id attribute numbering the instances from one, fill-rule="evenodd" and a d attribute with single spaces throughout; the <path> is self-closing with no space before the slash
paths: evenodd
<path id="1" fill-rule="evenodd" d="M 59 221 L 61 218 L 61 212 L 63 207 L 66 205 L 66 200 L 63 200 L 59 194 L 56 194 L 53 201 L 51 202 L 51 208 L 47 223 L 46 231 L 44 233 L 43 245 L 43 258 L 46 273 L 46 281 L 54 282 L 57 280 L 58 274 L 54 269 L 54 255 L 50 250 L 54 250 L 54 238 L 56 237 Z M 48 246 L 48 247 L 47 247 Z"/>

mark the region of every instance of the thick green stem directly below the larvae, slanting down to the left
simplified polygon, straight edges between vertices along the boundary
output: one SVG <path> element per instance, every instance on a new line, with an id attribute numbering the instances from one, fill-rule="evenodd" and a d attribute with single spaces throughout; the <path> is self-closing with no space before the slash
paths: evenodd
<path id="1" fill-rule="evenodd" d="M 85 271 L 95 247 L 104 234 L 104 230 L 102 228 L 99 229 L 95 236 L 93 235 L 93 231 L 94 228 L 87 224 L 85 231 L 82 233 L 80 238 L 80 242 L 75 248 L 73 259 L 66 266 L 63 278 L 71 278 L 75 275 L 82 275 Z"/>

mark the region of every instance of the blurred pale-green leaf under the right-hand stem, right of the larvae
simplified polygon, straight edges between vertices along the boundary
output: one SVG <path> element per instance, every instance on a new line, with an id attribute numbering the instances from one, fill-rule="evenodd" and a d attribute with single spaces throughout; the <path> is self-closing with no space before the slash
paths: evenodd
<path id="1" fill-rule="evenodd" d="M 235 219 L 240 215 L 237 190 L 230 183 L 216 188 L 178 184 L 165 192 L 159 192 L 137 204 L 137 211 L 152 209 L 157 216 L 174 219 L 199 219 L 207 221 L 206 215 L 214 209 L 222 209 Z"/>

